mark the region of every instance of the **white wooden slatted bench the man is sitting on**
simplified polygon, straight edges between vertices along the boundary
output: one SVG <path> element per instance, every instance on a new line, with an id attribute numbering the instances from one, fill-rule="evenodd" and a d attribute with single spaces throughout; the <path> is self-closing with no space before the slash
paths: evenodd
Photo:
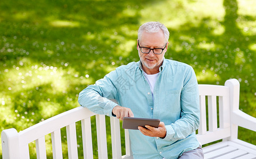
<path id="1" fill-rule="evenodd" d="M 217 144 L 203 147 L 205 158 L 256 158 L 256 146 L 237 139 L 238 126 L 256 131 L 256 118 L 239 109 L 240 84 L 228 80 L 225 86 L 199 85 L 201 122 L 197 138 L 202 145 L 217 140 Z M 68 158 L 78 158 L 76 122 L 81 121 L 84 158 L 93 158 L 92 116 L 96 116 L 98 158 L 108 158 L 105 116 L 83 107 L 63 112 L 37 123 L 19 133 L 14 129 L 2 131 L 3 158 L 29 158 L 29 146 L 36 142 L 37 158 L 46 158 L 45 136 L 51 134 L 53 158 L 62 155 L 61 128 L 67 129 Z M 128 131 L 125 130 L 125 155 L 121 153 L 119 119 L 111 117 L 113 158 L 133 158 Z"/>

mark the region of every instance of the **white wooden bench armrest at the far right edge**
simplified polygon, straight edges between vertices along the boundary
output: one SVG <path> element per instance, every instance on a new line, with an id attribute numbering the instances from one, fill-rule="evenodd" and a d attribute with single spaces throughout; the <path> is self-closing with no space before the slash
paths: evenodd
<path id="1" fill-rule="evenodd" d="M 256 118 L 241 110 L 233 111 L 231 117 L 231 123 L 256 132 Z"/>

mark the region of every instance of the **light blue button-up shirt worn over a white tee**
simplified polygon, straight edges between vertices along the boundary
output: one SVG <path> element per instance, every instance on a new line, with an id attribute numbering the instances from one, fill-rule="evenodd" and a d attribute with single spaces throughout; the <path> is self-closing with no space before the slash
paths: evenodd
<path id="1" fill-rule="evenodd" d="M 134 117 L 160 119 L 166 125 L 165 138 L 144 136 L 129 130 L 134 158 L 178 158 L 199 147 L 199 90 L 191 66 L 164 59 L 152 97 L 141 62 L 120 66 L 79 93 L 82 107 L 112 116 L 117 105 L 130 108 Z M 154 99 L 153 99 L 154 98 Z"/>

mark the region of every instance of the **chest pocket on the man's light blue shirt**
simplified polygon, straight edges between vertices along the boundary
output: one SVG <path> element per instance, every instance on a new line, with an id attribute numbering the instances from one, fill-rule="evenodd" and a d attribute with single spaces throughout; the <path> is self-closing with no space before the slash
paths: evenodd
<path id="1" fill-rule="evenodd" d="M 180 112 L 180 93 L 181 90 L 166 91 L 166 110 L 169 112 Z"/>

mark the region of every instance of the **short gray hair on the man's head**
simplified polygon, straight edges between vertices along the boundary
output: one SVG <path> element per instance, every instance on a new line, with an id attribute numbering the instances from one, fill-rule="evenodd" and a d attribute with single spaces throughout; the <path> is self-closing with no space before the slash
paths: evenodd
<path id="1" fill-rule="evenodd" d="M 141 27 L 139 27 L 138 29 L 138 39 L 141 40 L 142 33 L 144 31 L 148 33 L 154 33 L 154 32 L 158 32 L 160 29 L 163 31 L 164 37 L 166 38 L 166 42 L 168 42 L 170 33 L 166 28 L 166 26 L 164 26 L 160 22 L 147 22 L 142 24 Z"/>

